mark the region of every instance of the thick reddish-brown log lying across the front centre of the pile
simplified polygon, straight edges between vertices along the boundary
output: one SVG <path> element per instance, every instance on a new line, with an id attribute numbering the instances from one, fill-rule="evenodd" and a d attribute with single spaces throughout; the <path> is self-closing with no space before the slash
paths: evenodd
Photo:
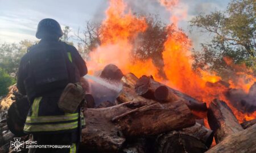
<path id="1" fill-rule="evenodd" d="M 141 102 L 135 101 L 129 106 L 135 106 L 132 111 L 113 118 L 127 137 L 155 135 L 195 124 L 191 111 L 183 101 L 163 104 L 151 101 L 147 105 L 139 104 Z M 144 106 L 136 108 L 137 105 Z"/>

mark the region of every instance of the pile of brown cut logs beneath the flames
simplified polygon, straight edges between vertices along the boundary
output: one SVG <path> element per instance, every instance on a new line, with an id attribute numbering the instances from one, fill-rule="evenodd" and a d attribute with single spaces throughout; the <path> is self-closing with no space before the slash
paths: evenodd
<path id="1" fill-rule="evenodd" d="M 240 124 L 224 101 L 214 99 L 207 108 L 151 76 L 129 73 L 121 82 L 115 105 L 84 109 L 80 152 L 256 152 L 256 119 Z M 5 120 L 0 121 L 0 152 L 8 152 L 15 137 Z"/>

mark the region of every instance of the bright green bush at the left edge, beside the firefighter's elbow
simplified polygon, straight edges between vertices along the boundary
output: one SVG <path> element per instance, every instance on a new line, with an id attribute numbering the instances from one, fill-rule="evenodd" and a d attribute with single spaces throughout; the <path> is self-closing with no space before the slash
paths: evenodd
<path id="1" fill-rule="evenodd" d="M 14 82 L 14 78 L 0 67 L 0 96 L 8 94 L 8 87 L 14 84 Z"/>

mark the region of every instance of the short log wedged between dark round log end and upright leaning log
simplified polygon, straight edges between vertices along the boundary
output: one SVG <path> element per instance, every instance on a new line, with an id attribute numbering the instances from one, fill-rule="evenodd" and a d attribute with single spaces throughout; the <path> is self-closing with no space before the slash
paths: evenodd
<path id="1" fill-rule="evenodd" d="M 205 128 L 205 126 L 196 123 L 194 126 L 185 128 L 182 130 L 184 133 L 192 134 L 196 138 L 200 139 L 208 148 L 212 145 L 213 131 Z"/>

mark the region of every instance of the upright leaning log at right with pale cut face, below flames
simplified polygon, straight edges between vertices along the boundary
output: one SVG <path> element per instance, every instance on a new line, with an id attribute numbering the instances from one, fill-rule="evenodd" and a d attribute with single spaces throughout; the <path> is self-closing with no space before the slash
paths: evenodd
<path id="1" fill-rule="evenodd" d="M 209 105 L 207 117 L 216 143 L 221 142 L 228 135 L 243 130 L 232 110 L 224 101 L 214 99 Z"/>

